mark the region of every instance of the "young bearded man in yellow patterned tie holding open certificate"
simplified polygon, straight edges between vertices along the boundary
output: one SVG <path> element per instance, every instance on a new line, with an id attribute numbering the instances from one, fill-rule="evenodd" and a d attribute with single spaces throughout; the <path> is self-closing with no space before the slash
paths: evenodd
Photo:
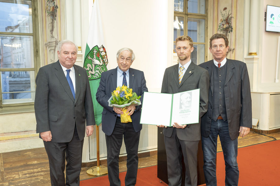
<path id="1" fill-rule="evenodd" d="M 189 36 L 176 39 L 179 64 L 165 70 L 161 93 L 179 93 L 200 88 L 199 122 L 190 125 L 174 123 L 163 129 L 167 156 L 167 174 L 170 186 L 181 185 L 182 156 L 186 168 L 185 186 L 197 186 L 197 152 L 200 135 L 200 118 L 207 111 L 209 74 L 191 61 L 193 40 Z M 160 125 L 159 127 L 164 127 Z"/>

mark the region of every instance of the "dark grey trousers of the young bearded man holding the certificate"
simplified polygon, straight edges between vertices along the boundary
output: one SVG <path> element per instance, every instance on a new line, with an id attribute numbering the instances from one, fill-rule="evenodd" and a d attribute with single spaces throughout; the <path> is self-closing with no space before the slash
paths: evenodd
<path id="1" fill-rule="evenodd" d="M 197 186 L 197 151 L 199 141 L 182 141 L 176 129 L 170 138 L 164 136 L 169 186 L 182 183 L 182 157 L 186 168 L 185 186 Z"/>

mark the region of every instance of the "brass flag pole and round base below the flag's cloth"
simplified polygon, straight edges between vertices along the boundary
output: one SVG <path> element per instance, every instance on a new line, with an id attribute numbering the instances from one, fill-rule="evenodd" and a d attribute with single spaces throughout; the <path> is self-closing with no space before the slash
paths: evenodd
<path id="1" fill-rule="evenodd" d="M 108 169 L 105 166 L 100 166 L 99 161 L 99 126 L 96 125 L 96 162 L 97 166 L 91 167 L 86 171 L 86 174 L 91 176 L 101 176 L 108 174 Z"/>

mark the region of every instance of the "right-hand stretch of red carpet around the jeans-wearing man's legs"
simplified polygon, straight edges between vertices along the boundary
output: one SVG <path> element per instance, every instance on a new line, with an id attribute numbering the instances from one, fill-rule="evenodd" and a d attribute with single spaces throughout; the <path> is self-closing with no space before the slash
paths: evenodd
<path id="1" fill-rule="evenodd" d="M 280 185 L 280 140 L 238 149 L 238 186 Z M 223 153 L 217 153 L 217 183 L 225 185 Z"/>

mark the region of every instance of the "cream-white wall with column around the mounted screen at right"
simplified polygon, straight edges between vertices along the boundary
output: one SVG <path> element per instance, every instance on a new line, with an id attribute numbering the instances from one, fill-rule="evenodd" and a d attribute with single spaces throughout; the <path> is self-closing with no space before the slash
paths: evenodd
<path id="1" fill-rule="evenodd" d="M 257 37 L 253 38 L 256 43 L 257 56 L 248 56 L 249 31 L 250 29 L 250 3 L 257 3 Z M 267 5 L 280 7 L 278 0 L 245 0 L 244 15 L 244 56 L 247 63 L 252 95 L 252 117 L 259 119 L 259 129 L 269 130 L 270 127 L 270 93 L 280 92 L 280 83 L 275 83 L 277 46 L 279 33 L 265 31 L 264 13 Z M 253 52 L 253 51 L 252 51 Z M 278 127 L 279 128 L 279 127 Z M 275 129 L 275 128 L 274 128 Z"/>

